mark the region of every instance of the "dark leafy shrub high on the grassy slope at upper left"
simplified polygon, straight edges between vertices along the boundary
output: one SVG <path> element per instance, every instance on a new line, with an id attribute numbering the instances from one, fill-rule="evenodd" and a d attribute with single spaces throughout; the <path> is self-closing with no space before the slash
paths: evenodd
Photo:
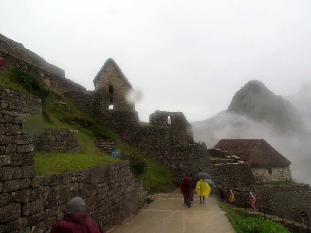
<path id="1" fill-rule="evenodd" d="M 38 95 L 42 103 L 49 96 L 50 91 L 45 87 L 33 73 L 20 70 L 19 68 L 11 69 L 8 75 L 17 84 L 23 86 L 31 94 Z"/>

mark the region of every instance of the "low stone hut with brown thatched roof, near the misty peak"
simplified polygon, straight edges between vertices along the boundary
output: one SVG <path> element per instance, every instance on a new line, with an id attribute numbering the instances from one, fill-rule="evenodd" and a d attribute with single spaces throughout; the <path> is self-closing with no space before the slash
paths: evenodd
<path id="1" fill-rule="evenodd" d="M 292 180 L 291 162 L 264 139 L 221 139 L 214 148 L 249 162 L 257 183 Z"/>

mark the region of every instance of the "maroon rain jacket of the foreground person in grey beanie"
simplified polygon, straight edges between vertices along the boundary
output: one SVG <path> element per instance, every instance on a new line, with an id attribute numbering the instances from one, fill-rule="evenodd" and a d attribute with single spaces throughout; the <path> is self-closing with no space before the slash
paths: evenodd
<path id="1" fill-rule="evenodd" d="M 83 212 L 73 216 L 65 213 L 63 220 L 54 223 L 50 233 L 103 233 L 100 227 Z"/>

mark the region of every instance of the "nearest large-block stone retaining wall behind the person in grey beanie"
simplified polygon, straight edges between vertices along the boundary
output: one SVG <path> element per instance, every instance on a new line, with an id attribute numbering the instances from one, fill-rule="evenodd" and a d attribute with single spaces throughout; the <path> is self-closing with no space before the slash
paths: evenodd
<path id="1" fill-rule="evenodd" d="M 78 195 L 104 230 L 142 207 L 145 190 L 133 180 L 128 161 L 35 176 L 33 139 L 23 132 L 25 116 L 0 113 L 0 232 L 49 232 Z"/>

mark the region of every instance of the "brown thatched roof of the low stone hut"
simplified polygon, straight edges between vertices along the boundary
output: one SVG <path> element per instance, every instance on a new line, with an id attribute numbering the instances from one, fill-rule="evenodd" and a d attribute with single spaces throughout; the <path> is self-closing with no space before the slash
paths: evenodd
<path id="1" fill-rule="evenodd" d="M 246 159 L 251 167 L 284 167 L 291 164 L 264 139 L 221 139 L 214 148 Z"/>

